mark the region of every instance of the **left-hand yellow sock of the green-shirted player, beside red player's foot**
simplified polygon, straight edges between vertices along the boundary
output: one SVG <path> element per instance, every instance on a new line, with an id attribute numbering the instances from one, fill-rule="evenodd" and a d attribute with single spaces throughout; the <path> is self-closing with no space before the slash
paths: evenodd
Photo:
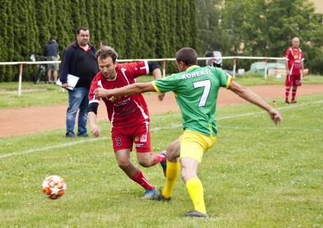
<path id="1" fill-rule="evenodd" d="M 163 189 L 162 195 L 165 198 L 169 198 L 173 194 L 173 189 L 178 177 L 178 173 L 180 172 L 180 162 L 169 162 L 167 161 L 167 169 L 166 169 L 166 185 Z"/>

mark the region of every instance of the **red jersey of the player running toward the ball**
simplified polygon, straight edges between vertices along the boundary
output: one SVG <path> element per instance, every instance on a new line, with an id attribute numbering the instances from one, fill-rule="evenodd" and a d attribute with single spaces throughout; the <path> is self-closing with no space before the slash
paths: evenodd
<path id="1" fill-rule="evenodd" d="M 95 88 L 121 88 L 135 83 L 136 77 L 148 73 L 147 61 L 118 64 L 116 67 L 116 77 L 112 80 L 105 79 L 101 72 L 99 72 L 91 83 L 88 100 L 90 104 L 91 102 L 99 103 L 100 98 L 96 98 L 93 93 Z M 107 97 L 103 98 L 103 101 L 107 107 L 107 116 L 112 128 L 126 128 L 143 123 L 143 121 L 150 121 L 147 105 L 141 94 Z"/>

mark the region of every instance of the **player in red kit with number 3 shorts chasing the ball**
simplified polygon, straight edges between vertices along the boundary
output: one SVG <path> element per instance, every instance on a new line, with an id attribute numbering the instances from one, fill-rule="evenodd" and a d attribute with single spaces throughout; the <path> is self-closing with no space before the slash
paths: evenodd
<path id="1" fill-rule="evenodd" d="M 88 123 L 91 133 L 100 136 L 100 127 L 96 124 L 96 114 L 100 98 L 95 97 L 95 88 L 120 88 L 135 83 L 138 76 L 152 72 L 154 79 L 161 79 L 162 72 L 157 63 L 131 62 L 117 63 L 117 52 L 114 48 L 105 46 L 95 54 L 100 72 L 95 75 L 88 93 Z M 164 94 L 159 95 L 159 100 Z M 133 143 L 136 145 L 138 163 L 143 167 L 161 163 L 166 173 L 166 152 L 152 153 L 150 145 L 150 119 L 143 95 L 113 96 L 103 98 L 107 107 L 107 115 L 111 123 L 111 138 L 114 155 L 118 166 L 124 170 L 131 180 L 145 188 L 142 199 L 150 199 L 157 194 L 156 189 L 145 179 L 140 169 L 131 162 L 130 153 Z"/>

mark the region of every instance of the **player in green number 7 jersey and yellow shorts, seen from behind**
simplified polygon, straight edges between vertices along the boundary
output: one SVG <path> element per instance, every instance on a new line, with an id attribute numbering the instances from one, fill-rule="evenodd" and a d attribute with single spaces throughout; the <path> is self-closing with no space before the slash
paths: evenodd
<path id="1" fill-rule="evenodd" d="M 204 204 L 204 189 L 197 177 L 197 170 L 204 152 L 216 142 L 216 100 L 220 87 L 232 90 L 241 98 L 265 109 L 272 121 L 282 122 L 281 114 L 264 102 L 256 93 L 232 81 L 232 76 L 216 67 L 199 67 L 192 48 L 182 48 L 176 53 L 176 65 L 180 73 L 165 79 L 147 83 L 133 83 L 122 88 L 94 92 L 100 98 L 112 95 L 133 95 L 157 91 L 173 91 L 182 112 L 184 132 L 167 147 L 166 185 L 157 201 L 170 201 L 173 188 L 181 169 L 181 176 L 190 194 L 195 210 L 182 216 L 209 217 Z"/>

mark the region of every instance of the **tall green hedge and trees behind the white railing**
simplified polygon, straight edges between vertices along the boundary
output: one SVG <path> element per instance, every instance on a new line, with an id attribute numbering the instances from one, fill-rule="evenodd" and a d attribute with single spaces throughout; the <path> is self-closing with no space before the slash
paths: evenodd
<path id="1" fill-rule="evenodd" d="M 1 0 L 0 18 L 0 62 L 30 61 L 51 36 L 62 53 L 77 28 L 86 26 L 91 43 L 98 48 L 106 41 L 119 59 L 173 58 L 184 46 L 195 48 L 199 57 L 212 50 L 282 57 L 298 36 L 305 68 L 323 74 L 323 15 L 310 0 Z M 237 69 L 248 70 L 256 61 L 237 61 Z M 232 64 L 223 60 L 225 69 Z M 32 81 L 35 68 L 23 67 L 24 81 Z M 174 62 L 166 69 L 176 72 Z M 18 66 L 0 65 L 0 82 L 18 81 L 18 72 Z"/>

